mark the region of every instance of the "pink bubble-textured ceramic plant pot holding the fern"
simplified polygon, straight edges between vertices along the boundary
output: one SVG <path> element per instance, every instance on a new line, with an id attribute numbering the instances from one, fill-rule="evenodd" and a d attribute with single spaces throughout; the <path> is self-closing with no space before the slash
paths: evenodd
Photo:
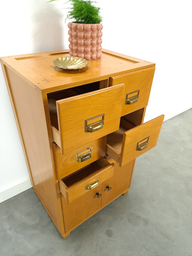
<path id="1" fill-rule="evenodd" d="M 87 60 L 98 59 L 101 56 L 102 28 L 99 24 L 80 24 L 70 22 L 69 27 L 69 54 Z"/>

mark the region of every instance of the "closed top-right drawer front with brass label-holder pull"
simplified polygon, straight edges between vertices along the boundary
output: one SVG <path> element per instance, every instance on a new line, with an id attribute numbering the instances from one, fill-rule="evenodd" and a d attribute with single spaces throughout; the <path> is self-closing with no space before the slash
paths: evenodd
<path id="1" fill-rule="evenodd" d="M 112 77 L 110 85 L 125 84 L 121 116 L 147 106 L 155 67 Z"/>

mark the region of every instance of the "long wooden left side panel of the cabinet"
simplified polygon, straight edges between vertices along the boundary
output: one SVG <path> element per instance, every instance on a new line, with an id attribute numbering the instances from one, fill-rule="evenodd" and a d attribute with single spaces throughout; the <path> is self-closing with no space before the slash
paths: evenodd
<path id="1" fill-rule="evenodd" d="M 31 172 L 33 187 L 61 232 L 45 111 L 40 89 L 6 68 L 10 96 Z"/>

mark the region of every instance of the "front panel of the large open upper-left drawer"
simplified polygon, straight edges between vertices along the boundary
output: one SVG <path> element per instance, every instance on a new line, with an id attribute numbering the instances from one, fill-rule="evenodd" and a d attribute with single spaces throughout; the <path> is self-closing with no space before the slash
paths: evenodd
<path id="1" fill-rule="evenodd" d="M 119 129 L 124 84 L 57 101 L 62 154 Z"/>

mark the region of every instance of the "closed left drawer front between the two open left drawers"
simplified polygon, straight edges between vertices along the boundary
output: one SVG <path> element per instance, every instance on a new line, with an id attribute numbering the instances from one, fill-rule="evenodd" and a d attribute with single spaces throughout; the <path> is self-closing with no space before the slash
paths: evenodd
<path id="1" fill-rule="evenodd" d="M 105 148 L 106 136 L 65 154 L 61 154 L 61 149 L 54 144 L 57 178 L 62 179 L 105 156 Z"/>

